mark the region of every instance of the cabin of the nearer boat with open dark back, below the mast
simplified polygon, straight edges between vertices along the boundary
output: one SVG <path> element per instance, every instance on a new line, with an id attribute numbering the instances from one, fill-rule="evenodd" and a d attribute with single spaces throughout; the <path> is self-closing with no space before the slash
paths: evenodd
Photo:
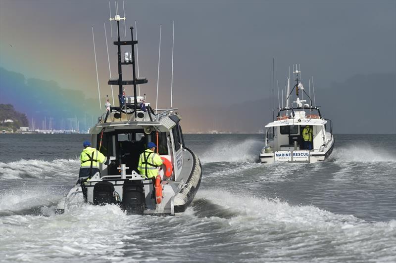
<path id="1" fill-rule="evenodd" d="M 130 117 L 133 118 L 133 115 Z M 121 118 L 120 118 L 121 119 Z M 166 158 L 173 167 L 170 177 L 162 179 L 177 180 L 183 166 L 182 151 L 184 138 L 179 125 L 180 117 L 176 114 L 162 117 L 158 122 L 129 121 L 109 122 L 97 124 L 90 133 L 93 145 L 106 156 L 110 162 L 101 164 L 101 175 L 121 175 L 121 164 L 125 165 L 126 175 L 138 171 L 139 157 L 147 149 L 149 142 L 157 145 L 156 153 Z"/>

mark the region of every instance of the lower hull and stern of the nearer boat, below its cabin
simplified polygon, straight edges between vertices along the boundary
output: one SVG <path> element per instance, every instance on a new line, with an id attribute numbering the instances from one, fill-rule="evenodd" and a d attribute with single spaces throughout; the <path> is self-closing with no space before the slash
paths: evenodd
<path id="1" fill-rule="evenodd" d="M 62 213 L 73 207 L 89 203 L 92 205 L 116 204 L 128 214 L 175 215 L 176 213 L 182 213 L 193 201 L 202 176 L 200 161 L 193 151 L 186 148 L 183 158 L 184 165 L 182 173 L 185 176 L 178 182 L 171 180 L 163 181 L 161 184 L 162 200 L 159 204 L 155 202 L 154 183 L 150 179 L 142 178 L 136 173 L 127 175 L 127 178 L 118 177 L 110 179 L 106 179 L 106 176 L 103 176 L 102 179 L 99 175 L 94 175 L 83 187 L 79 184 L 75 185 L 69 191 L 68 195 L 60 200 L 56 212 Z M 135 185 L 141 184 L 142 186 L 140 188 L 136 186 L 135 190 L 129 191 L 128 200 L 125 200 L 124 198 L 127 198 L 126 186 L 131 188 L 131 182 L 135 181 L 137 182 Z M 109 187 L 110 190 L 103 189 L 100 191 L 103 186 Z M 83 194 L 84 191 L 87 193 L 86 200 Z M 142 193 L 142 202 L 132 207 L 125 205 L 130 204 L 131 200 L 132 203 L 136 202 L 136 199 L 139 199 L 139 193 Z M 126 207 L 129 207 L 129 209 L 126 209 Z"/>

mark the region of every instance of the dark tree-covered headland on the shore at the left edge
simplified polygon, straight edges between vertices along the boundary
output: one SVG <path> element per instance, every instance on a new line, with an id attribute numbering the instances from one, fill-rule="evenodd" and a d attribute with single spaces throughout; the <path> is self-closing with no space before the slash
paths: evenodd
<path id="1" fill-rule="evenodd" d="M 12 122 L 5 122 L 6 120 Z M 15 132 L 20 127 L 29 127 L 26 114 L 16 111 L 11 104 L 0 104 L 0 128 Z"/>

